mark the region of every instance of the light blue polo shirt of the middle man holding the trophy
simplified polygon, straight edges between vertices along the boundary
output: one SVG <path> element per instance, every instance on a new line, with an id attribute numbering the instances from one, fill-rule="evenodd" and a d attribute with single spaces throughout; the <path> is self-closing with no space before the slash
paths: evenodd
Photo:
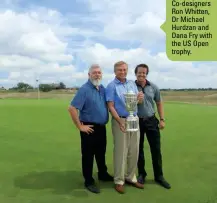
<path id="1" fill-rule="evenodd" d="M 129 113 L 126 110 L 124 94 L 130 90 L 138 94 L 138 89 L 135 82 L 127 79 L 124 83 L 122 83 L 117 78 L 115 78 L 106 87 L 106 101 L 114 102 L 115 110 L 119 116 L 129 116 Z M 137 115 L 137 110 L 134 112 L 134 115 Z"/>

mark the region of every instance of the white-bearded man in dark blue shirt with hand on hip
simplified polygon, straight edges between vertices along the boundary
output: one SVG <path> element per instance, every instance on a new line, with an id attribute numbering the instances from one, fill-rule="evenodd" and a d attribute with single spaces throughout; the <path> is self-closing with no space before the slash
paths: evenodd
<path id="1" fill-rule="evenodd" d="M 105 88 L 100 84 L 102 72 L 98 65 L 92 65 L 89 70 L 89 80 L 77 91 L 71 101 L 69 112 L 80 131 L 82 172 L 86 188 L 94 193 L 100 190 L 92 177 L 94 156 L 98 166 L 98 178 L 102 181 L 113 181 L 107 172 L 106 124 L 109 119 L 105 99 Z M 78 116 L 78 110 L 80 115 Z"/>

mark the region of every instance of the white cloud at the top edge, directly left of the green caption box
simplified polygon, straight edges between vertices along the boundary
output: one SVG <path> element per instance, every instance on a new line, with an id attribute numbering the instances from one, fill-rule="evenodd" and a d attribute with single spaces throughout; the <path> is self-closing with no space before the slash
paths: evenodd
<path id="1" fill-rule="evenodd" d="M 160 25 L 165 20 L 165 1 L 88 0 L 104 25 L 103 36 L 118 40 L 140 40 L 144 46 L 163 39 Z"/>

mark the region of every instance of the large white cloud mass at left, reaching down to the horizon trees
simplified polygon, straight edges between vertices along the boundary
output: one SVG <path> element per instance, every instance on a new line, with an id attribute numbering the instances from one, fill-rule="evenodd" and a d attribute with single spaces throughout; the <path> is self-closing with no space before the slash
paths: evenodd
<path id="1" fill-rule="evenodd" d="M 58 25 L 61 21 L 52 10 L 0 13 L 0 71 L 9 72 L 0 84 L 25 81 L 33 85 L 39 76 L 41 82 L 64 81 L 75 72 L 68 41 L 63 39 L 76 29 Z"/>

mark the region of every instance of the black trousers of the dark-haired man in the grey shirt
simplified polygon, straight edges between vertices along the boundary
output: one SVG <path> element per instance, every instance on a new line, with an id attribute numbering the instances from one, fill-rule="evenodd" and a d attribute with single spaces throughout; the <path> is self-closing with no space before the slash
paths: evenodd
<path id="1" fill-rule="evenodd" d="M 147 120 L 140 118 L 140 144 L 139 144 L 139 159 L 138 159 L 138 173 L 147 176 L 145 171 L 145 156 L 144 156 L 144 138 L 145 134 L 150 146 L 152 156 L 152 166 L 154 170 L 154 177 L 158 179 L 163 176 L 162 171 L 162 155 L 160 130 L 158 127 L 159 120 L 153 116 Z"/>

